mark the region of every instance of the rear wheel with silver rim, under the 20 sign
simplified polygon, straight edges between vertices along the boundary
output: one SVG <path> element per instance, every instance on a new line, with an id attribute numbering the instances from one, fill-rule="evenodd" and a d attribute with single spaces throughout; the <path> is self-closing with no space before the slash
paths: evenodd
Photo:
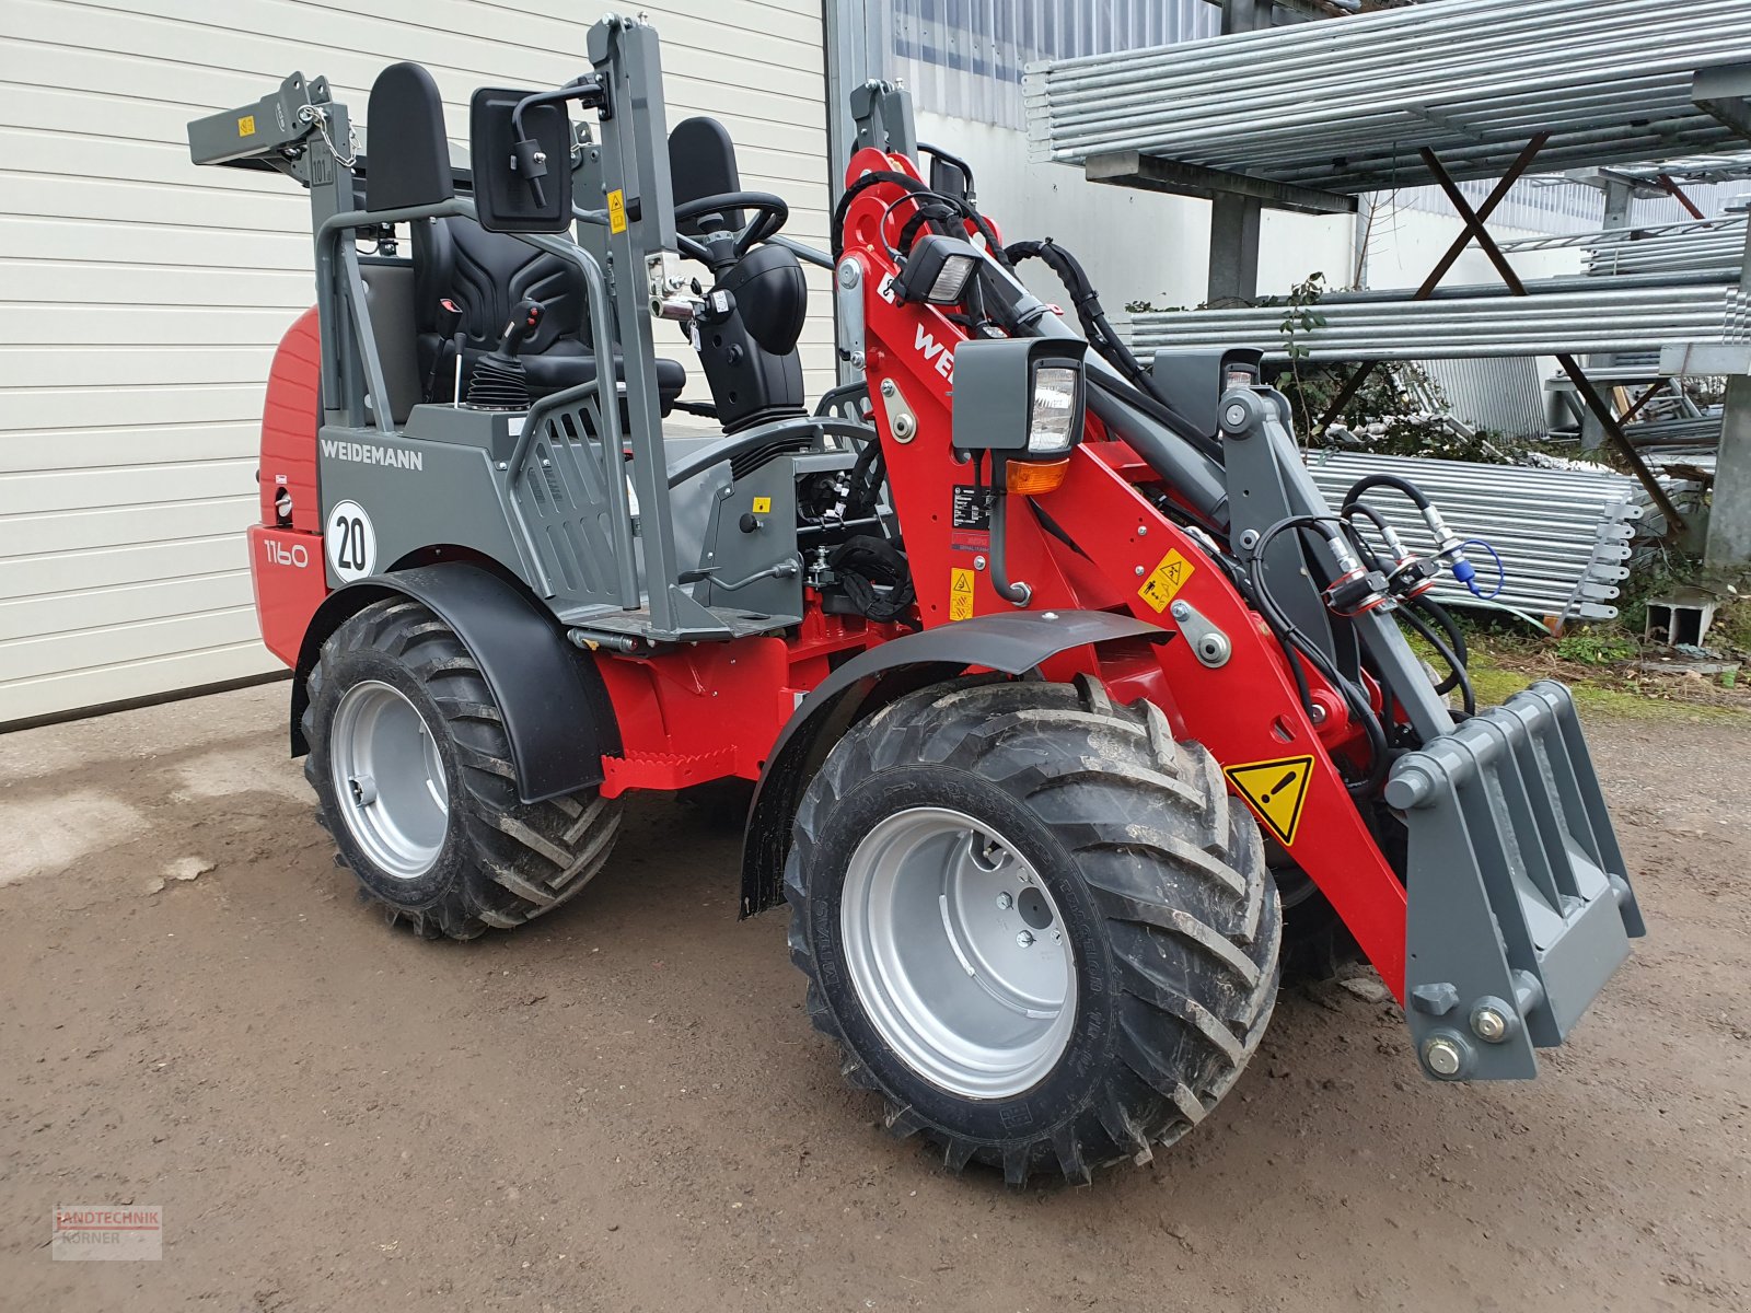
<path id="1" fill-rule="evenodd" d="M 473 938 L 574 896 L 620 805 L 524 804 L 504 716 L 462 639 L 411 599 L 364 607 L 308 676 L 305 777 L 341 861 L 415 933 Z"/>

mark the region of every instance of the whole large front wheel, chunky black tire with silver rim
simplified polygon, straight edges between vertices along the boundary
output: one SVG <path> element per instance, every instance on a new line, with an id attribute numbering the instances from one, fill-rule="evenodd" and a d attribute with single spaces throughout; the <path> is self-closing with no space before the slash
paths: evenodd
<path id="1" fill-rule="evenodd" d="M 1227 1092 L 1276 993 L 1252 816 L 1100 685 L 937 685 L 854 727 L 797 812 L 809 1015 L 888 1124 L 1010 1183 L 1147 1159 Z"/>

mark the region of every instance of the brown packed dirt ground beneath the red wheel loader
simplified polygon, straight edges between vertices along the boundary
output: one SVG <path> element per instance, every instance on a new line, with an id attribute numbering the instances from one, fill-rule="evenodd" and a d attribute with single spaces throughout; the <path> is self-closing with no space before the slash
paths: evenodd
<path id="1" fill-rule="evenodd" d="M 1653 930 L 1537 1082 L 1296 987 L 1187 1141 L 1009 1192 L 840 1082 L 725 818 L 643 804 L 567 909 L 420 944 L 284 697 L 0 737 L 4 1309 L 1751 1306 L 1751 723 L 1592 725 Z M 130 1201 L 161 1262 L 51 1262 Z"/>

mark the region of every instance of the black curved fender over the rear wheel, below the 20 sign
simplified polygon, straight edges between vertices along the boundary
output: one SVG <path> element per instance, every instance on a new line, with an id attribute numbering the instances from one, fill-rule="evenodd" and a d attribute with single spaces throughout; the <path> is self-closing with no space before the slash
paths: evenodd
<path id="1" fill-rule="evenodd" d="M 566 641 L 550 611 L 508 579 L 468 562 L 378 574 L 322 600 L 292 674 L 292 756 L 310 751 L 299 720 L 310 706 L 306 679 L 322 644 L 385 597 L 411 597 L 462 639 L 504 716 L 524 802 L 602 783 L 602 756 L 620 753 L 620 728 L 601 672 Z"/>

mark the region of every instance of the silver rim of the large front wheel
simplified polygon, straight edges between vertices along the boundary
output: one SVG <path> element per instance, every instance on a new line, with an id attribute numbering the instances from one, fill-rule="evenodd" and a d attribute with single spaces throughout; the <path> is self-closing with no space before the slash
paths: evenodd
<path id="1" fill-rule="evenodd" d="M 846 968 L 883 1042 L 954 1094 L 1037 1085 L 1075 1026 L 1075 954 L 1016 847 L 946 807 L 881 821 L 851 854 Z"/>

